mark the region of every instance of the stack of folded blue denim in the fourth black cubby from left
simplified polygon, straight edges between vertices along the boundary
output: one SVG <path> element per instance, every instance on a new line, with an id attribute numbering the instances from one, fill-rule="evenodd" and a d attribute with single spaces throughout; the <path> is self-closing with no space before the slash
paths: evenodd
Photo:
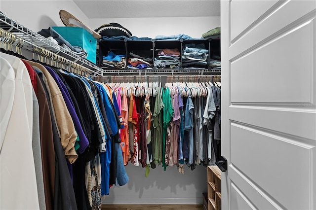
<path id="1" fill-rule="evenodd" d="M 208 50 L 204 43 L 189 43 L 182 47 L 182 67 L 184 69 L 204 69 L 207 66 Z"/>

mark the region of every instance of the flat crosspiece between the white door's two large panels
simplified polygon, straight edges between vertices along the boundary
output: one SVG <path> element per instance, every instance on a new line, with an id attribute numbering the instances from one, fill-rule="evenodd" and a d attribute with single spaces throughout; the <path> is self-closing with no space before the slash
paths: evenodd
<path id="1" fill-rule="evenodd" d="M 293 105 L 294 106 L 294 105 Z M 310 132 L 316 125 L 316 113 L 295 107 L 233 105 L 229 108 L 232 121 L 269 129 L 269 132 L 292 135 L 292 139 L 315 144 L 316 132 Z M 289 113 L 290 112 L 290 113 Z"/>

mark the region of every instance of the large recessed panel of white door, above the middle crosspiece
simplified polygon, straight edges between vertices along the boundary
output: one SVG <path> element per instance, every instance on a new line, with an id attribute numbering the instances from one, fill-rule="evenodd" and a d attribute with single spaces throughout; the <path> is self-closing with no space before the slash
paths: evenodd
<path id="1" fill-rule="evenodd" d="M 315 72 L 310 60 L 316 56 L 313 55 L 311 45 L 311 39 L 315 37 L 311 33 L 314 22 L 311 21 L 295 31 L 276 37 L 233 61 L 231 102 L 313 104 L 310 97 L 313 92 L 315 94 L 311 86 L 311 82 L 314 81 L 310 81 L 310 78 L 313 78 Z M 289 72 L 291 69 L 297 72 Z M 296 84 L 300 84 L 299 87 Z"/>

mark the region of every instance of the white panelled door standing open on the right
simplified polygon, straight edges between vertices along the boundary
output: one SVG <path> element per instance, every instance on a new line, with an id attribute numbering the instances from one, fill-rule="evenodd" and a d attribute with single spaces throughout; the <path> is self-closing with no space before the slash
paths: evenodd
<path id="1" fill-rule="evenodd" d="M 316 1 L 221 1 L 222 209 L 316 209 Z"/>

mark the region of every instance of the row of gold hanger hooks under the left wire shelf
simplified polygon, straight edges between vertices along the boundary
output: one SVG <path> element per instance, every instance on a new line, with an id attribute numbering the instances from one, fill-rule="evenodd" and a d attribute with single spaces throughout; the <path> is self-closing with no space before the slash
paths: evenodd
<path id="1" fill-rule="evenodd" d="M 70 61 L 60 55 L 48 51 L 45 48 L 39 47 L 27 40 L 24 40 L 20 36 L 14 35 L 0 28 L 0 47 L 4 50 L 13 51 L 13 45 L 15 46 L 15 53 L 22 55 L 22 48 L 25 45 L 32 46 L 33 48 L 33 59 L 34 53 L 38 55 L 38 61 L 45 63 L 56 68 L 63 68 L 72 72 L 85 75 L 91 74 L 92 71 L 86 67 L 83 67 L 73 61 Z"/>

